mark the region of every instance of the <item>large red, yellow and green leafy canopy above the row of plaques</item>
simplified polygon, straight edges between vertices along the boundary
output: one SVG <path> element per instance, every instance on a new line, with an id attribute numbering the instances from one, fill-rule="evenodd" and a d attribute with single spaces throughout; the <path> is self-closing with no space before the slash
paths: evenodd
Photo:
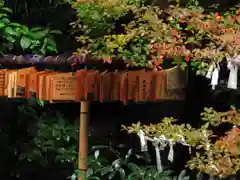
<path id="1" fill-rule="evenodd" d="M 170 5 L 166 9 L 140 0 L 71 4 L 78 17 L 72 26 L 80 33 L 77 55 L 88 54 L 108 63 L 126 60 L 129 66 L 155 70 L 165 60 L 174 59 L 182 68 L 190 63 L 203 74 L 208 64 L 238 51 L 237 9 L 206 13 L 197 1 L 187 8 Z"/>

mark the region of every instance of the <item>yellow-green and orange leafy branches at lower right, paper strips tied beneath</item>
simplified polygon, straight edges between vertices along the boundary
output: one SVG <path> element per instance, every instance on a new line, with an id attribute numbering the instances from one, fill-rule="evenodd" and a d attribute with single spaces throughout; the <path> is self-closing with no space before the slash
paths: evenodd
<path id="1" fill-rule="evenodd" d="M 164 135 L 174 143 L 185 143 L 196 150 L 191 154 L 187 167 L 197 169 L 213 177 L 234 177 L 240 170 L 239 159 L 239 112 L 234 108 L 228 112 L 216 112 L 212 108 L 205 108 L 202 120 L 205 124 L 199 129 L 190 125 L 176 125 L 172 118 L 165 118 L 159 124 L 140 125 L 133 124 L 124 127 L 129 133 L 145 132 L 147 137 L 160 137 Z M 232 128 L 225 130 L 226 134 L 214 134 L 213 127 L 229 123 Z M 190 151 L 191 153 L 191 151 Z"/>

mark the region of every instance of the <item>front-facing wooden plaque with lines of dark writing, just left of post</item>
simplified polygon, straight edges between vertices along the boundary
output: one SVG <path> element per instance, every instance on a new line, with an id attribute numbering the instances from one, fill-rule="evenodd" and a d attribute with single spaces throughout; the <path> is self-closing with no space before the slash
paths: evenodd
<path id="1" fill-rule="evenodd" d="M 73 73 L 61 73 L 52 77 L 52 100 L 74 100 L 76 76 Z"/>

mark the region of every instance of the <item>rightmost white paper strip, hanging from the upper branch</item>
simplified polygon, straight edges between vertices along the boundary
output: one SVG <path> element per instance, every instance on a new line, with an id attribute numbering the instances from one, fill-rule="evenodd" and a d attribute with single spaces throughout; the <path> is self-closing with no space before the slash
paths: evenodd
<path id="1" fill-rule="evenodd" d="M 229 61 L 227 67 L 230 70 L 227 87 L 229 89 L 237 89 L 238 66 Z"/>

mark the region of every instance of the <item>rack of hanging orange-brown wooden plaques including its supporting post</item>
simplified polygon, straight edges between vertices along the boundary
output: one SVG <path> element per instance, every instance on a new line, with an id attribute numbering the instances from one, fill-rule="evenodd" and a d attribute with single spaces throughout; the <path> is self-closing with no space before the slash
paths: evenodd
<path id="1" fill-rule="evenodd" d="M 160 72 L 143 70 L 97 72 L 82 69 L 74 73 L 38 71 L 34 67 L 1 69 L 0 96 L 36 97 L 52 103 L 80 102 L 78 166 L 85 176 L 90 101 L 122 101 L 127 104 L 129 101 L 181 100 L 184 99 L 183 89 L 186 80 L 184 74 L 178 67 Z M 79 180 L 85 179 L 84 176 L 79 177 Z"/>

